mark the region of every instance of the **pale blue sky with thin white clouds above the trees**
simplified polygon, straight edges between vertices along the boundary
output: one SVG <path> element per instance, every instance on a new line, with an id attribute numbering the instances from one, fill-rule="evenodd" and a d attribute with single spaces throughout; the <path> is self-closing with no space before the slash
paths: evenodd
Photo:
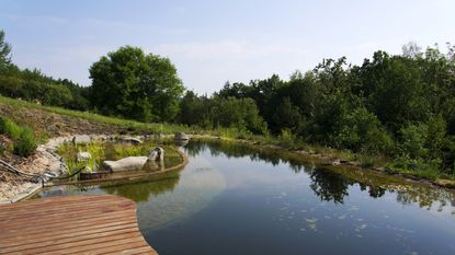
<path id="1" fill-rule="evenodd" d="M 0 30 L 21 68 L 90 85 L 90 66 L 124 45 L 169 57 L 186 89 L 283 79 L 323 58 L 352 63 L 455 44 L 453 0 L 0 0 Z"/>

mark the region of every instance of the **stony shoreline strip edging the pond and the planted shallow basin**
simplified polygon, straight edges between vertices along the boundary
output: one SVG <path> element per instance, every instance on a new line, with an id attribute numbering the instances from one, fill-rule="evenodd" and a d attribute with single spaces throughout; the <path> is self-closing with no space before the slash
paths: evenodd
<path id="1" fill-rule="evenodd" d="M 388 172 L 385 167 L 377 167 L 377 166 L 373 166 L 373 167 L 363 167 L 361 165 L 361 163 L 356 162 L 356 161 L 349 161 L 349 160 L 343 160 L 343 159 L 339 159 L 339 158 L 333 158 L 330 157 L 328 154 L 322 154 L 322 153 L 311 153 L 309 151 L 306 150 L 293 150 L 293 149 L 287 149 L 284 148 L 283 146 L 277 146 L 277 144 L 268 144 L 268 143 L 261 143 L 261 141 L 254 141 L 254 140 L 246 140 L 246 139 L 232 139 L 232 138 L 224 138 L 224 137 L 217 137 L 217 136 L 213 136 L 213 135 L 190 135 L 191 139 L 196 139 L 196 140 L 220 140 L 220 141 L 228 141 L 228 142 L 236 142 L 236 143 L 240 143 L 240 144 L 246 144 L 249 147 L 253 147 L 258 150 L 273 150 L 273 151 L 280 151 L 283 153 L 292 153 L 294 157 L 297 157 L 298 159 L 303 160 L 303 161 L 307 161 L 307 162 L 312 162 L 318 166 L 330 166 L 330 167 L 354 167 L 355 170 L 361 170 L 361 171 L 372 171 L 372 172 L 376 172 L 376 173 L 380 173 L 384 174 L 386 176 L 396 176 L 398 178 L 402 178 L 403 181 L 407 182 L 412 182 L 412 183 L 419 183 L 419 184 L 424 184 L 424 185 L 430 185 L 430 186 L 434 186 L 437 188 L 446 188 L 446 189 L 451 189 L 451 190 L 455 190 L 455 181 L 452 179 L 426 179 L 420 176 L 416 176 L 416 175 L 411 175 L 411 174 L 402 174 L 402 173 L 391 173 Z M 50 158 L 50 163 L 54 164 L 55 169 L 50 170 L 54 173 L 59 173 L 59 175 L 61 175 L 61 173 L 64 173 L 64 161 L 60 155 L 58 155 L 55 151 L 57 150 L 57 148 L 62 144 L 64 142 L 70 142 L 76 138 L 77 142 L 91 142 L 91 141 L 105 141 L 109 140 L 109 138 L 112 136 L 107 136 L 107 135 L 73 135 L 73 136 L 65 136 L 65 137 L 55 137 L 52 138 L 47 141 L 47 143 L 45 144 L 39 144 L 37 149 L 37 151 L 39 152 L 47 152 L 47 157 L 52 155 Z M 144 136 L 134 136 L 136 138 L 145 138 Z M 171 136 L 163 136 L 161 138 L 168 138 Z M 183 167 L 184 165 L 187 164 L 189 159 L 187 157 L 180 151 L 179 149 L 174 149 L 180 157 L 182 158 L 182 162 L 178 165 L 171 166 L 169 169 L 164 169 L 163 171 L 157 171 L 157 172 L 151 172 L 151 173 L 140 173 L 137 175 L 130 175 L 130 176 L 120 176 L 117 178 L 99 178 L 99 179 L 86 179 L 86 181 L 77 181 L 77 182 L 67 182 L 67 183 L 53 183 L 53 182 L 46 182 L 46 183 L 41 183 L 41 184 L 34 184 L 31 182 L 24 182 L 23 184 L 13 187 L 14 190 L 14 196 L 8 197 L 7 199 L 1 199 L 0 204 L 11 204 L 11 202 L 16 202 L 20 200 L 24 200 L 27 199 L 30 197 L 32 197 L 33 195 L 35 195 L 36 193 L 38 193 L 42 188 L 44 187 L 49 187 L 49 186 L 58 186 L 58 185 L 76 185 L 76 184 L 93 184 L 93 183 L 103 183 L 103 182 L 116 182 L 116 181 L 135 181 L 135 179 L 140 179 L 147 176 L 152 176 L 152 175 L 158 175 L 158 174 L 162 174 L 162 173 L 167 173 L 170 171 L 174 171 L 174 170 L 179 170 L 181 167 Z M 41 158 L 35 159 L 34 161 L 30 162 L 30 164 L 33 164 L 36 160 L 41 160 Z M 56 165 L 58 164 L 58 167 L 56 167 Z M 42 173 L 49 171 L 48 169 L 43 169 Z M 8 185 L 8 184 L 7 184 Z M 10 187 L 11 188 L 11 187 Z"/>

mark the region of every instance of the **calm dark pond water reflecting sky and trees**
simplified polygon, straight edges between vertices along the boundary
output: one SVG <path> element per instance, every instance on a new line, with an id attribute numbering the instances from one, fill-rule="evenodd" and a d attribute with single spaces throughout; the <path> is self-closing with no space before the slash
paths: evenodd
<path id="1" fill-rule="evenodd" d="M 160 254 L 455 254 L 453 192 L 229 142 L 182 150 L 181 171 L 39 196 L 130 198 Z"/>

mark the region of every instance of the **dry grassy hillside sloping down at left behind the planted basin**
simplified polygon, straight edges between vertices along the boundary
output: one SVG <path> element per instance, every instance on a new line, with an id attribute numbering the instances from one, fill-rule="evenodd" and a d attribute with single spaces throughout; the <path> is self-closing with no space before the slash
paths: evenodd
<path id="1" fill-rule="evenodd" d="M 38 143 L 54 137 L 70 135 L 147 135 L 147 134 L 172 134 L 178 130 L 186 130 L 183 126 L 143 124 L 120 118 L 105 117 L 101 115 L 69 111 L 59 107 L 43 106 L 0 96 L 0 116 L 12 119 L 20 126 L 33 129 Z M 49 165 L 46 153 L 43 150 L 27 157 L 21 158 L 12 153 L 13 142 L 4 135 L 0 135 L 2 152 L 0 159 L 26 173 L 41 173 Z M 32 184 L 8 172 L 0 172 L 0 198 L 18 195 L 20 190 L 26 189 Z"/>

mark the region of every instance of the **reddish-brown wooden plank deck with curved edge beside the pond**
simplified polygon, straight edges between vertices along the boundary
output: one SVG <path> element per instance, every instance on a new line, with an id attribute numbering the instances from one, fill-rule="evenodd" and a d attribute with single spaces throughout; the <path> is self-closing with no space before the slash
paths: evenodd
<path id="1" fill-rule="evenodd" d="M 136 204 L 70 196 L 0 206 L 0 254 L 157 254 L 144 240 Z"/>

